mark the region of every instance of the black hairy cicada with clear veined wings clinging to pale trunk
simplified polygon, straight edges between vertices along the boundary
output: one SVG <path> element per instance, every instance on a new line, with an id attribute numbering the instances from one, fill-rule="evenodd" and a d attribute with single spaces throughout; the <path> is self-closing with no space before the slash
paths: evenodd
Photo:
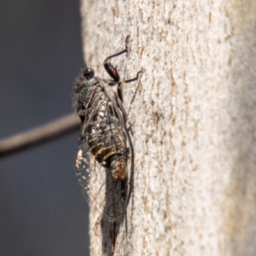
<path id="1" fill-rule="evenodd" d="M 81 133 L 74 157 L 77 182 L 93 209 L 109 221 L 123 218 L 131 196 L 134 153 L 123 107 L 122 84 L 118 71 L 109 60 L 104 68 L 112 79 L 95 77 L 86 67 L 75 83 L 76 112 L 81 118 Z"/>

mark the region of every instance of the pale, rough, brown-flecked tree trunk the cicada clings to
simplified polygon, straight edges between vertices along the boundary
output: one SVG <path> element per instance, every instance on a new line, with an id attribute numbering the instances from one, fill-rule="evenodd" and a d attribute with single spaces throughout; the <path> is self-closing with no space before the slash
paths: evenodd
<path id="1" fill-rule="evenodd" d="M 91 254 L 256 255 L 255 0 L 83 0 L 81 13 L 97 76 L 127 35 L 131 51 L 111 61 L 126 79 L 143 69 L 124 86 L 127 217 L 91 212 Z"/>

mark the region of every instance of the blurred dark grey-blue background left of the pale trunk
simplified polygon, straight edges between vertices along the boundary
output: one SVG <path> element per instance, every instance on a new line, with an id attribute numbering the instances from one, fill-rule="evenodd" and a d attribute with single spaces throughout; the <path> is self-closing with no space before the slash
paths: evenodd
<path id="1" fill-rule="evenodd" d="M 79 1 L 0 1 L 0 138 L 72 113 Z M 0 159 L 0 255 L 89 255 L 72 169 L 79 132 Z"/>

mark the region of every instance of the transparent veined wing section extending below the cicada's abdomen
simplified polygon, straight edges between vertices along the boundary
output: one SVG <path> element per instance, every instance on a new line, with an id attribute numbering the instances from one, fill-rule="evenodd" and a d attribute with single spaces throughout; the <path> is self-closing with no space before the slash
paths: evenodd
<path id="1" fill-rule="evenodd" d="M 120 220 L 127 208 L 128 180 L 118 180 L 102 167 L 86 143 L 80 143 L 74 157 L 77 182 L 92 209 L 108 221 Z"/>

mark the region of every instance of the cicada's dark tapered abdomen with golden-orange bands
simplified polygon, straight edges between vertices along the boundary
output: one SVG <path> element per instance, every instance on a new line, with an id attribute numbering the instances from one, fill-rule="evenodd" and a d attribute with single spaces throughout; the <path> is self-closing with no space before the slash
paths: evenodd
<path id="1" fill-rule="evenodd" d="M 114 179 L 127 178 L 126 138 L 111 101 L 103 92 L 99 109 L 86 129 L 90 152 L 113 175 Z"/>

